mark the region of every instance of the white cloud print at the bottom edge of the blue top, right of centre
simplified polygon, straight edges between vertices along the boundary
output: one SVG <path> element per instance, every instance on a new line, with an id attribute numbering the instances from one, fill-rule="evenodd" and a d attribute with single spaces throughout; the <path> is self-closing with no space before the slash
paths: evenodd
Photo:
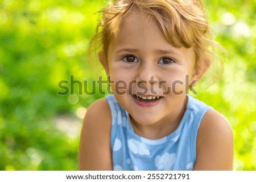
<path id="1" fill-rule="evenodd" d="M 155 158 L 155 167 L 158 170 L 171 170 L 172 165 L 176 162 L 176 154 L 165 153 Z"/>

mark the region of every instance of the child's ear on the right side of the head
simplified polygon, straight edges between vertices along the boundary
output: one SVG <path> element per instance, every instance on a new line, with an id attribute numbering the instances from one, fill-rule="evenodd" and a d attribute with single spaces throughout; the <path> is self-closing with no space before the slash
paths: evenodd
<path id="1" fill-rule="evenodd" d="M 196 61 L 195 70 L 192 75 L 192 82 L 193 80 L 197 80 L 195 84 L 192 86 L 196 86 L 196 84 L 200 81 L 200 79 L 204 76 L 207 70 L 210 67 L 210 59 L 207 55 L 200 55 L 199 60 Z"/>

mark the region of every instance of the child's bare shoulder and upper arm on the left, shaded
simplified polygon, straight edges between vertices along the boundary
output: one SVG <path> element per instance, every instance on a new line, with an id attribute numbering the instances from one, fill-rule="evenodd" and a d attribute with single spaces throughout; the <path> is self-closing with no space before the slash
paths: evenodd
<path id="1" fill-rule="evenodd" d="M 111 116 L 108 101 L 97 100 L 88 108 L 82 125 L 80 170 L 112 170 L 110 130 Z"/>

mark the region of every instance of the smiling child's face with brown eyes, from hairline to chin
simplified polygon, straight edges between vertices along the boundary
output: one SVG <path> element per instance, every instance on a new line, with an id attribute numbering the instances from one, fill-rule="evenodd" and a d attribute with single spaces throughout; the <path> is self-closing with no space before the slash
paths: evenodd
<path id="1" fill-rule="evenodd" d="M 105 67 L 111 80 L 119 82 L 119 90 L 112 84 L 118 103 L 142 125 L 177 118 L 186 101 L 188 84 L 196 79 L 193 49 L 175 48 L 164 39 L 156 21 L 148 20 L 148 15 L 138 10 L 123 20 L 117 37 L 110 41 L 108 67 Z M 134 81 L 139 85 L 132 84 Z M 123 82 L 127 86 L 121 90 Z M 137 93 L 145 88 L 146 92 Z M 138 100 L 136 95 L 160 96 L 160 99 Z"/>

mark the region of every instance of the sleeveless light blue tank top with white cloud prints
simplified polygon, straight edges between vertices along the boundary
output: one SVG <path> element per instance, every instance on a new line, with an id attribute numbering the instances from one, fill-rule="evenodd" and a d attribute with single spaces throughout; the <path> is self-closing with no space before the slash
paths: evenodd
<path id="1" fill-rule="evenodd" d="M 112 114 L 113 170 L 193 170 L 199 126 L 212 107 L 192 96 L 187 97 L 187 108 L 178 128 L 166 137 L 147 139 L 134 133 L 129 113 L 113 95 L 107 95 Z"/>

